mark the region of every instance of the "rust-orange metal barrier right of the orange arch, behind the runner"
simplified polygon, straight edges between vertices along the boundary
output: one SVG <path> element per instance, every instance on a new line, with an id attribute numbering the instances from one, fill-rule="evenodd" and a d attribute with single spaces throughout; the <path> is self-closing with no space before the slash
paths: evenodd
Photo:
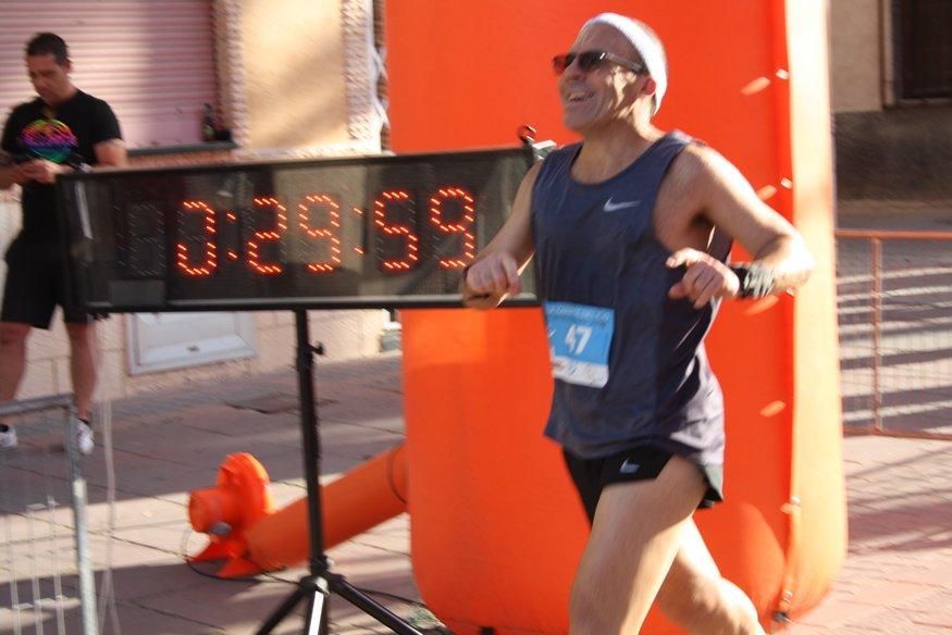
<path id="1" fill-rule="evenodd" d="M 844 431 L 952 440 L 952 233 L 836 238 Z"/>

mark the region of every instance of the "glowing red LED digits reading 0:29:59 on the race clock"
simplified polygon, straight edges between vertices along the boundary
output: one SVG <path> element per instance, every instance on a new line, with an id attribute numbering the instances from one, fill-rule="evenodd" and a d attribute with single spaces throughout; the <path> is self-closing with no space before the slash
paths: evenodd
<path id="1" fill-rule="evenodd" d="M 294 203 L 296 219 L 290 219 L 287 208 L 274 196 L 257 196 L 251 199 L 250 208 L 219 211 L 200 199 L 185 200 L 180 206 L 176 223 L 175 265 L 186 277 L 209 277 L 222 266 L 223 272 L 233 275 L 227 273 L 233 271 L 228 263 L 240 263 L 250 273 L 261 276 L 280 276 L 288 265 L 297 266 L 297 263 L 301 263 L 307 273 L 330 274 L 344 266 L 345 247 L 348 254 L 361 257 L 368 238 L 373 236 L 375 250 L 371 252 L 378 270 L 384 274 L 411 271 L 424 258 L 442 270 L 463 269 L 475 259 L 477 217 L 472 192 L 448 185 L 435 189 L 428 200 L 429 222 L 424 227 L 417 224 L 418 200 L 407 190 L 381 191 L 373 201 L 372 216 L 360 208 L 348 207 L 363 227 L 355 233 L 363 235 L 363 244 L 358 245 L 345 245 L 344 226 L 353 224 L 355 219 L 349 213 L 347 220 L 343 217 L 343 203 L 336 195 L 313 192 L 298 199 Z M 366 222 L 364 214 L 370 216 Z M 368 227 L 371 220 L 373 224 Z M 372 231 L 364 234 L 368 228 Z M 129 231 L 131 244 L 136 232 L 139 232 L 138 224 L 135 232 Z M 421 236 L 425 240 L 422 248 Z M 151 234 L 147 238 L 151 239 Z M 293 246 L 286 245 L 286 240 L 294 240 Z M 141 256 L 131 248 L 127 251 L 131 262 L 143 261 L 144 264 L 136 265 L 139 269 L 157 258 L 156 248 L 148 252 L 143 250 Z M 288 254 L 292 260 L 286 260 Z"/>

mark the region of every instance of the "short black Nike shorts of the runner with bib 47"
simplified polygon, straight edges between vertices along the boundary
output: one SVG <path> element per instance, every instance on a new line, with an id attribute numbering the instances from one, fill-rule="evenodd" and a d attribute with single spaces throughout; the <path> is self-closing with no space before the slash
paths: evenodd
<path id="1" fill-rule="evenodd" d="M 673 453 L 654 446 L 638 446 L 601 459 L 580 459 L 566 450 L 562 456 L 591 523 L 606 486 L 657 478 Z M 707 490 L 697 507 L 707 509 L 724 500 L 724 465 L 697 465 L 697 469 L 707 482 Z"/>

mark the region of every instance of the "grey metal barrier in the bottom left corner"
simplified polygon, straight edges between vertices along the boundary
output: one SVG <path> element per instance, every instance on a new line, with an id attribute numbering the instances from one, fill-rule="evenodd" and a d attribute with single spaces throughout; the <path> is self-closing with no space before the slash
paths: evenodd
<path id="1" fill-rule="evenodd" d="M 53 451 L 46 451 L 50 445 L 47 438 L 60 437 L 57 429 L 60 426 L 49 425 L 55 411 L 62 413 L 65 455 L 60 453 L 58 446 Z M 70 585 L 64 584 L 63 578 L 67 573 L 75 573 L 82 632 L 94 635 L 99 633 L 99 627 L 86 524 L 86 481 L 83 457 L 72 443 L 76 435 L 72 396 L 0 402 L 0 416 L 4 419 L 44 413 L 49 418 L 47 425 L 33 420 L 17 425 L 22 445 L 26 447 L 0 455 L 0 528 L 3 530 L 0 533 L 0 575 L 9 576 L 9 592 L 3 588 L 8 581 L 0 580 L 0 593 L 10 601 L 9 613 L 0 603 L 0 632 L 20 635 L 28 630 L 41 634 L 44 622 L 54 621 L 55 624 L 48 625 L 50 632 L 65 633 L 65 607 L 71 598 L 64 595 Z M 30 432 L 29 436 L 23 434 L 37 428 L 39 432 Z M 34 435 L 41 440 L 36 441 Z M 63 463 L 65 474 L 62 473 Z M 58 498 L 65 500 L 67 497 L 73 509 L 72 526 L 59 518 L 62 514 L 58 515 Z M 61 537 L 69 533 L 72 533 L 75 549 L 75 572 L 66 570 L 60 562 Z M 22 601 L 26 598 L 28 601 Z M 26 626 L 24 622 L 27 622 Z M 76 632 L 75 626 L 70 632 Z"/>

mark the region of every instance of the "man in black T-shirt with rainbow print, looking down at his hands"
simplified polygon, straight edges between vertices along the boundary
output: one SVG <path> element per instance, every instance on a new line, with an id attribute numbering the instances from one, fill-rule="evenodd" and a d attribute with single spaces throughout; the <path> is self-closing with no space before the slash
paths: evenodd
<path id="1" fill-rule="evenodd" d="M 13 399 L 26 365 L 30 328 L 49 328 L 63 306 L 63 254 L 53 183 L 84 164 L 124 166 L 126 151 L 112 109 L 77 89 L 66 42 L 41 33 L 26 45 L 26 70 L 38 97 L 13 109 L 0 141 L 0 189 L 23 188 L 23 228 L 7 252 L 0 310 L 0 401 Z M 89 418 L 96 386 L 94 324 L 82 310 L 63 311 L 70 372 L 79 418 L 73 441 L 92 451 Z M 0 422 L 0 448 L 16 447 L 16 431 Z"/>

